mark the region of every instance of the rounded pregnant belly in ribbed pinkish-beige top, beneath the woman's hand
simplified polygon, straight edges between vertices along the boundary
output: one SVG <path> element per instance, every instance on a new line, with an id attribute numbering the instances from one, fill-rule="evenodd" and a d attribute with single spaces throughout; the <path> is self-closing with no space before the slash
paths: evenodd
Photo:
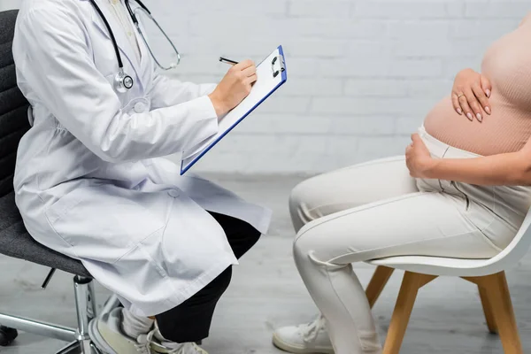
<path id="1" fill-rule="evenodd" d="M 427 134 L 454 148 L 489 156 L 520 150 L 531 136 L 531 112 L 521 112 L 491 96 L 492 115 L 470 121 L 453 108 L 450 96 L 427 114 Z"/>

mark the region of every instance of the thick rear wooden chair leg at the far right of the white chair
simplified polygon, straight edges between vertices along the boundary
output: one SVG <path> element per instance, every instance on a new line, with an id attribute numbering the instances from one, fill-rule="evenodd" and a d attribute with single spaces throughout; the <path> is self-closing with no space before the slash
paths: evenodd
<path id="1" fill-rule="evenodd" d="M 504 354 L 523 354 L 524 351 L 519 338 L 505 273 L 465 279 L 485 289 L 492 309 L 492 315 L 496 321 L 496 327 L 504 346 Z"/>

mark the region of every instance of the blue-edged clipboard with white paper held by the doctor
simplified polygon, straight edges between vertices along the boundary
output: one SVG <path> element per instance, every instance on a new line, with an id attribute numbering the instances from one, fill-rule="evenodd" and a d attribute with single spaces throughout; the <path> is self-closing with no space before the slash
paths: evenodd
<path id="1" fill-rule="evenodd" d="M 238 104 L 235 109 L 228 112 L 219 122 L 218 134 L 214 135 L 206 143 L 202 143 L 200 149 L 183 152 L 181 175 L 187 173 L 208 151 L 212 150 L 218 142 L 288 80 L 284 50 L 281 45 L 257 65 L 257 75 L 258 81 L 253 85 L 249 96 L 241 104 Z"/>

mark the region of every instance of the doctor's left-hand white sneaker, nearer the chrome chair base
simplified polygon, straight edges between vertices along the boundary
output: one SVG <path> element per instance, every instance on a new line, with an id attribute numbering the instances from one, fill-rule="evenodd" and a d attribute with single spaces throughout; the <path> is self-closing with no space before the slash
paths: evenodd
<path id="1" fill-rule="evenodd" d="M 106 354 L 151 354 L 150 338 L 139 335 L 135 340 L 121 329 L 122 309 L 104 313 L 89 324 L 90 339 Z"/>

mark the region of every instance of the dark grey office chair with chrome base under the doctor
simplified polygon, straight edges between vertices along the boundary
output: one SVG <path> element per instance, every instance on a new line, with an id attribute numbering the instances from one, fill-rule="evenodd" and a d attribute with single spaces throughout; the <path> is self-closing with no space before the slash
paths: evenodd
<path id="1" fill-rule="evenodd" d="M 94 283 L 81 262 L 50 250 L 27 233 L 15 205 L 13 173 L 19 140 L 29 129 L 28 103 L 17 87 L 12 56 L 12 40 L 17 11 L 0 12 L 0 254 L 24 259 L 51 271 L 42 284 L 45 288 L 56 269 L 73 273 L 73 289 L 77 311 L 77 329 L 51 325 L 33 319 L 21 319 L 0 313 L 0 345 L 7 345 L 17 336 L 17 329 L 70 342 L 58 354 L 100 353 L 90 342 L 88 325 L 96 317 Z M 0 304 L 1 305 L 1 304 Z M 109 312 L 119 305 L 112 296 L 104 306 Z M 11 328 L 10 328 L 11 327 Z M 16 328 L 16 329 L 13 329 Z"/>

